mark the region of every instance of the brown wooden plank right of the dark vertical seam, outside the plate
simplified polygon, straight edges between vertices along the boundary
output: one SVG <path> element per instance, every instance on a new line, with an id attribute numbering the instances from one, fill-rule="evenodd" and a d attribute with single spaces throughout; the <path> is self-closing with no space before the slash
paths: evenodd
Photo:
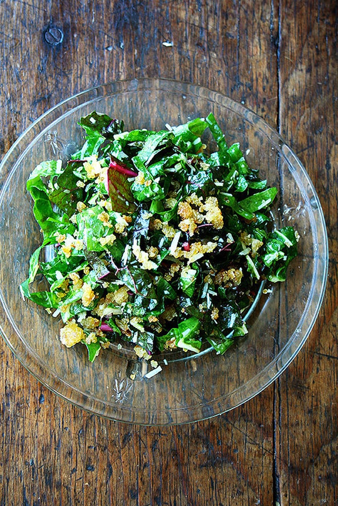
<path id="1" fill-rule="evenodd" d="M 291 16 L 291 12 L 293 16 Z M 281 504 L 336 504 L 337 439 L 337 67 L 334 3 L 285 2 L 280 12 L 280 129 L 321 197 L 330 266 L 324 305 L 307 346 L 276 386 Z M 302 19 L 299 26 L 297 19 Z M 309 39 L 312 43 L 309 43 Z M 287 443 L 287 444 L 285 444 Z"/>

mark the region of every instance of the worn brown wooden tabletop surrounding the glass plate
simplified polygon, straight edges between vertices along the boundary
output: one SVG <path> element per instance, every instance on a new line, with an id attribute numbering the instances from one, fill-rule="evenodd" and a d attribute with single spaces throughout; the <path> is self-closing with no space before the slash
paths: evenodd
<path id="1" fill-rule="evenodd" d="M 0 342 L 0 504 L 338 504 L 337 60 L 334 0 L 0 0 L 0 152 L 105 81 L 161 76 L 244 103 L 284 136 L 323 206 L 320 315 L 280 378 L 227 414 L 144 428 L 90 415 Z"/>

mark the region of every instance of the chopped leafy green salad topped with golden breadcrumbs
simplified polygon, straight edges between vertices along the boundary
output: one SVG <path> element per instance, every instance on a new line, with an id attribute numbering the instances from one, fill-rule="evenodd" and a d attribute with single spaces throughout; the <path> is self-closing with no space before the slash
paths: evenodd
<path id="1" fill-rule="evenodd" d="M 284 281 L 297 255 L 296 231 L 271 218 L 277 188 L 239 143 L 228 146 L 211 113 L 159 132 L 125 131 L 97 112 L 79 124 L 81 150 L 43 161 L 27 181 L 43 240 L 23 298 L 61 316 L 61 342 L 82 343 L 91 361 L 122 341 L 146 359 L 223 354 L 247 333 L 262 281 Z M 41 275 L 48 289 L 34 292 Z"/>

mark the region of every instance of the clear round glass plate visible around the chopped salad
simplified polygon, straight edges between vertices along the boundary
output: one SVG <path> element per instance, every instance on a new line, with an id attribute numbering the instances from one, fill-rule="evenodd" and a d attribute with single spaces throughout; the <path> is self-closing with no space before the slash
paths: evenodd
<path id="1" fill-rule="evenodd" d="M 278 187 L 273 216 L 278 226 L 297 229 L 299 255 L 289 266 L 286 282 L 259 298 L 247 319 L 247 336 L 223 356 L 204 353 L 171 360 L 152 378 L 144 377 L 150 366 L 127 347 L 101 350 L 90 363 L 85 347 L 61 345 L 58 318 L 22 300 L 19 285 L 40 241 L 26 180 L 37 163 L 65 159 L 83 143 L 77 121 L 93 110 L 123 119 L 128 130 L 163 129 L 165 123 L 183 123 L 212 111 L 228 143 L 240 142 L 249 165 Z M 114 82 L 71 97 L 41 116 L 12 146 L 0 169 L 1 330 L 20 362 L 64 399 L 128 423 L 200 420 L 230 410 L 266 388 L 305 343 L 327 276 L 322 209 L 301 162 L 267 123 L 241 104 L 184 82 Z"/>

